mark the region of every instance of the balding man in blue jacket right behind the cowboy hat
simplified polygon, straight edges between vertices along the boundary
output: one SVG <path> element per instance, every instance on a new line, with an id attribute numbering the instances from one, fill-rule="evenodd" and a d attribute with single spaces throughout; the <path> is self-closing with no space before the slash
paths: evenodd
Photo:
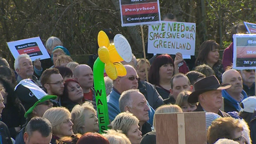
<path id="1" fill-rule="evenodd" d="M 231 87 L 222 90 L 224 98 L 224 111 L 239 111 L 239 105 L 244 98 L 247 98 L 246 92 L 243 90 L 243 80 L 241 74 L 237 70 L 227 70 L 222 74 L 222 82 L 230 83 Z"/>

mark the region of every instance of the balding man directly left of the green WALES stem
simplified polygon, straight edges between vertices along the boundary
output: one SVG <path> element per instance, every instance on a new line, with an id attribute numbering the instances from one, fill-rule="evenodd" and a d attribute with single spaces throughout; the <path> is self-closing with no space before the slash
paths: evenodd
<path id="1" fill-rule="evenodd" d="M 83 89 L 83 100 L 95 102 L 92 68 L 86 64 L 78 65 L 76 68 L 74 68 L 73 74 L 74 79 L 79 82 Z"/>

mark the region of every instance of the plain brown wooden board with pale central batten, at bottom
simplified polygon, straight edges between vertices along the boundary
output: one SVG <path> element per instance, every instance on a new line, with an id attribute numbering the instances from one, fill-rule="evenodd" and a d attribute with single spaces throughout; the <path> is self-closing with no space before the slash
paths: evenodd
<path id="1" fill-rule="evenodd" d="M 207 144 L 205 112 L 156 114 L 157 144 Z"/>

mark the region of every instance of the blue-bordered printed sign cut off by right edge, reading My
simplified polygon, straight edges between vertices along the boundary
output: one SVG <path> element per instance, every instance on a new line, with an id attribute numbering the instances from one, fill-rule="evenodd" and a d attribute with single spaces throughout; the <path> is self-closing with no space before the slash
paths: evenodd
<path id="1" fill-rule="evenodd" d="M 235 34 L 233 41 L 233 68 L 236 70 L 255 70 L 256 34 Z"/>

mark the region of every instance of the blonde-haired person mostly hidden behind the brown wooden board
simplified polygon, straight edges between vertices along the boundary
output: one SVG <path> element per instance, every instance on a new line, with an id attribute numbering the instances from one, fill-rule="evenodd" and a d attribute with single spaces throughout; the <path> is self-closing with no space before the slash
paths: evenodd
<path id="1" fill-rule="evenodd" d="M 154 114 L 161 114 L 161 113 L 182 113 L 182 109 L 178 105 L 162 105 L 156 109 L 156 113 Z M 148 132 L 141 140 L 140 144 L 156 144 L 156 118 L 154 115 L 153 119 L 153 127 L 154 131 Z"/>

